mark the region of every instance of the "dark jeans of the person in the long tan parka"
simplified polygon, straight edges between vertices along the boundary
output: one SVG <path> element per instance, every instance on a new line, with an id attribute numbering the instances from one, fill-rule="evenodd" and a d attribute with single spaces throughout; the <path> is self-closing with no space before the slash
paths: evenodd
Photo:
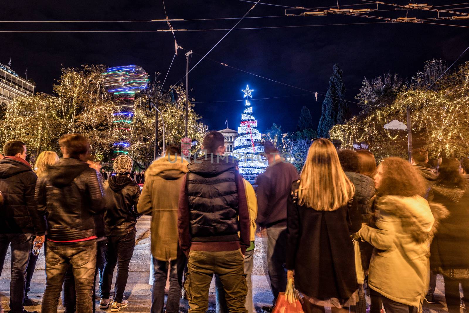
<path id="1" fill-rule="evenodd" d="M 169 290 L 166 301 L 166 312 L 179 312 L 179 299 L 182 290 L 182 273 L 187 259 L 181 253 L 176 260 L 160 261 L 153 258 L 153 289 L 151 290 L 151 313 L 162 313 L 165 304 L 165 286 L 169 269 Z"/>

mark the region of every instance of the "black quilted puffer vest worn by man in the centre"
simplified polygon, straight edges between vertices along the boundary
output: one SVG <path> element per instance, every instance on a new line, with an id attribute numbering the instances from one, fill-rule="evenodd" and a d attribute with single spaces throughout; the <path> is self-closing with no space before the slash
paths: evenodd
<path id="1" fill-rule="evenodd" d="M 198 158 L 186 178 L 191 241 L 239 241 L 236 162 Z"/>

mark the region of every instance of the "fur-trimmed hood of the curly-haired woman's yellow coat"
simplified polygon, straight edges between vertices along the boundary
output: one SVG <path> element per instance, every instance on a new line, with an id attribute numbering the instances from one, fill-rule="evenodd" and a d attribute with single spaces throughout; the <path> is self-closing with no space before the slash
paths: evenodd
<path id="1" fill-rule="evenodd" d="M 378 197 L 376 208 L 400 218 L 402 228 L 418 243 L 431 241 L 437 232 L 439 222 L 449 215 L 445 206 L 429 203 L 420 196 Z"/>

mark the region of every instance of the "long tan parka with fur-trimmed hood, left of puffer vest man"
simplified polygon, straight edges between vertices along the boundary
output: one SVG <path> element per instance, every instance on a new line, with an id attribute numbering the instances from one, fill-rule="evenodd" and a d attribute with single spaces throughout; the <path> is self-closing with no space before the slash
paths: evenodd
<path id="1" fill-rule="evenodd" d="M 151 254 L 157 260 L 175 260 L 178 256 L 178 201 L 188 164 L 181 156 L 177 159 L 164 156 L 145 171 L 146 181 L 137 210 L 140 214 L 151 214 Z"/>

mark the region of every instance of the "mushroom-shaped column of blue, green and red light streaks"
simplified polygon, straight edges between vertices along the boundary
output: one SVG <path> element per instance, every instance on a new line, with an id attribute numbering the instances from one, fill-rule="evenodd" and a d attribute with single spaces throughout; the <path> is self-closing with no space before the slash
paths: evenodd
<path id="1" fill-rule="evenodd" d="M 108 92 L 113 93 L 115 105 L 113 107 L 113 158 L 118 155 L 129 154 L 130 131 L 134 115 L 135 94 L 148 86 L 148 74 L 140 66 L 127 65 L 106 69 L 102 73 L 103 85 Z"/>

